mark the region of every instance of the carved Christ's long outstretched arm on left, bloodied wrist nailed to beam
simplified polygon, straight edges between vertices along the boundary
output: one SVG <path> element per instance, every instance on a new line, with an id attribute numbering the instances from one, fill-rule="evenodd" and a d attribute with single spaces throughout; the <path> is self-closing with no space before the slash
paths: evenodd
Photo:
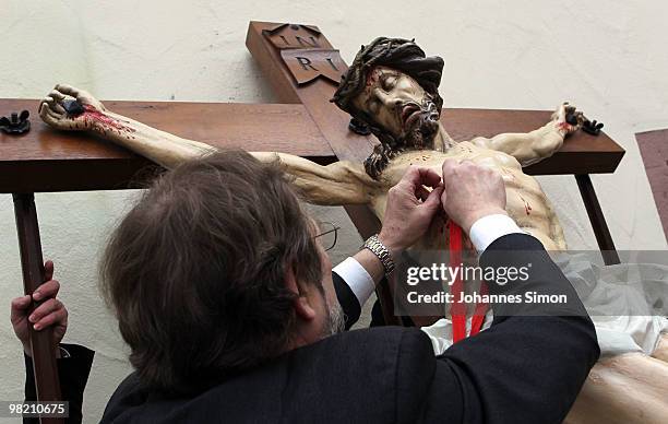
<path id="1" fill-rule="evenodd" d="M 76 101 L 76 103 L 73 103 Z M 83 106 L 83 110 L 75 110 Z M 184 161 L 217 151 L 194 140 L 182 139 L 108 110 L 90 93 L 59 84 L 39 105 L 39 115 L 48 125 L 70 131 L 91 131 L 140 154 L 167 169 Z M 327 166 L 309 160 L 273 152 L 253 152 L 262 162 L 279 161 L 294 178 L 305 200 L 315 204 L 363 204 L 380 189 L 361 164 L 336 162 Z"/>

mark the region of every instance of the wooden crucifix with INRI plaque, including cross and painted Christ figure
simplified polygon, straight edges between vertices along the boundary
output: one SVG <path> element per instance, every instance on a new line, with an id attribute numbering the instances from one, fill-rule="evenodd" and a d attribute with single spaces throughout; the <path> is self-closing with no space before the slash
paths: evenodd
<path id="1" fill-rule="evenodd" d="M 358 55 L 353 63 L 351 72 L 348 72 L 338 51 L 313 26 L 251 22 L 247 45 L 265 71 L 281 101 L 288 104 L 224 107 L 227 108 L 228 116 L 262 114 L 263 118 L 253 120 L 253 126 L 258 122 L 258 127 L 263 127 L 266 132 L 259 134 L 255 145 L 249 143 L 248 134 L 244 134 L 248 132 L 246 129 L 251 126 L 238 128 L 238 133 L 232 133 L 230 129 L 234 128 L 231 122 L 235 120 L 214 113 L 215 108 L 220 109 L 223 105 L 151 105 L 114 102 L 103 104 L 85 91 L 58 85 L 43 102 L 41 117 L 58 129 L 84 130 L 102 136 L 165 167 L 172 167 L 183 160 L 206 154 L 217 146 L 235 145 L 239 140 L 235 140 L 232 136 L 238 136 L 239 139 L 247 138 L 243 143 L 239 143 L 240 146 L 249 151 L 271 152 L 257 153 L 255 156 L 261 161 L 282 161 L 286 172 L 297 177 L 296 185 L 306 195 L 307 200 L 321 204 L 345 205 L 363 237 L 378 229 L 379 219 L 382 219 L 384 211 L 384 193 L 407 166 L 420 161 L 425 162 L 425 166 L 440 164 L 448 154 L 460 154 L 465 158 L 492 163 L 506 174 L 504 175 L 506 189 L 513 195 L 512 202 L 514 202 L 509 213 L 516 221 L 526 222 L 525 229 L 550 248 L 565 248 L 561 227 L 549 202 L 537 182 L 528 175 L 573 174 L 576 175 L 599 246 L 606 252 L 606 261 L 610 263 L 618 261 L 587 175 L 613 172 L 623 155 L 623 150 L 605 134 L 593 137 L 575 132 L 584 123 L 584 117 L 574 107 L 561 105 L 553 116 L 550 111 L 472 109 L 441 111 L 442 102 L 439 101 L 436 90 L 438 82 L 434 86 L 431 72 L 433 69 L 429 69 L 433 63 L 418 63 L 421 59 L 428 59 L 420 58 L 419 54 L 418 57 L 410 59 L 410 63 L 402 62 L 401 58 L 405 58 L 406 50 L 401 49 L 413 49 L 414 56 L 417 51 L 415 50 L 417 46 L 408 40 L 374 40 L 368 46 L 368 51 L 362 48 L 361 56 Z M 397 60 L 392 59 L 393 48 L 402 51 L 401 55 L 396 55 L 399 58 Z M 371 68 L 369 63 L 379 56 L 382 57 L 384 51 L 387 51 L 387 57 Z M 366 54 L 368 57 L 365 57 Z M 410 51 L 407 55 L 410 56 Z M 416 66 L 427 67 L 424 78 L 420 76 L 420 71 L 415 74 L 408 71 L 408 69 L 415 70 Z M 355 74 L 358 68 L 361 75 Z M 336 91 L 343 73 L 346 73 L 346 79 Z M 440 73 L 438 80 L 440 81 Z M 380 105 L 382 102 L 377 98 L 379 97 L 377 89 L 395 94 L 396 90 L 404 90 L 409 95 L 414 95 L 415 104 L 403 104 L 397 119 L 399 123 L 406 123 L 403 129 L 409 127 L 408 122 L 421 122 L 416 131 L 405 134 L 402 133 L 401 126 L 393 127 L 397 122 L 394 122 L 393 116 L 386 114 Z M 330 98 L 334 98 L 339 108 L 353 115 L 357 125 L 349 122 L 348 114 L 333 107 L 329 102 Z M 371 106 L 373 102 L 378 105 Z M 165 118 L 168 114 L 174 116 L 179 109 L 186 110 L 188 107 L 191 108 L 189 117 L 194 118 L 188 120 L 190 127 L 196 128 L 200 122 L 206 126 L 204 115 L 207 111 L 211 114 L 213 123 L 208 122 L 208 131 L 184 129 L 182 125 L 179 128 L 162 125 L 166 123 Z M 196 111 L 193 113 L 192 108 Z M 275 126 L 265 122 L 264 114 L 270 116 L 271 110 L 285 114 L 273 122 L 277 123 Z M 198 111 L 200 116 L 195 115 Z M 295 116 L 285 118 L 289 114 Z M 158 115 L 163 116 L 164 122 L 157 118 Z M 369 119 L 369 115 L 373 115 L 374 118 Z M 216 122 L 226 119 L 229 126 L 218 127 L 218 132 L 211 131 L 213 130 L 211 125 L 215 126 Z M 379 130 L 381 127 L 379 120 L 383 120 L 384 131 Z M 453 122 L 453 127 L 449 127 L 450 133 L 440 126 L 439 120 Z M 175 122 L 174 118 L 171 121 Z M 179 118 L 176 122 L 183 121 L 186 119 Z M 247 117 L 244 116 L 241 121 L 248 121 Z M 348 130 L 349 123 L 356 131 Z M 365 125 L 368 128 L 365 128 Z M 169 132 L 157 130 L 152 126 Z M 410 126 L 414 127 L 415 125 Z M 379 137 L 380 144 L 374 144 L 371 137 L 363 133 L 367 129 Z M 44 128 L 41 130 L 48 131 Z M 290 132 L 293 130 L 294 132 Z M 305 133 L 313 137 L 302 146 L 300 144 L 305 133 L 300 133 L 299 130 L 307 130 Z M 281 131 L 284 133 L 277 133 Z M 563 138 L 570 133 L 575 136 L 564 144 Z M 62 138 L 61 141 L 64 141 L 72 137 L 70 134 L 55 136 L 51 132 L 47 137 Z M 474 134 L 478 137 L 472 137 Z M 79 144 L 85 143 L 75 137 L 73 140 Z M 546 140 L 547 142 L 542 143 Z M 287 143 L 281 144 L 284 141 Z M 297 142 L 289 144 L 290 141 Z M 536 149 L 526 150 L 524 149 L 526 145 Z M 313 152 L 305 154 L 303 151 L 299 151 L 306 148 L 312 148 L 324 154 L 312 154 Z M 116 153 L 127 154 L 121 152 Z M 307 161 L 305 156 L 314 161 Z M 551 157 L 540 161 L 547 156 Z M 135 165 L 145 164 L 134 156 L 131 158 L 139 161 Z M 20 165 L 28 166 L 19 162 Z M 49 184 L 56 185 L 58 186 L 56 190 L 72 190 L 76 189 L 73 188 L 76 185 L 86 184 L 90 185 L 88 189 L 122 188 L 136 170 L 131 166 L 124 169 L 117 166 L 109 167 L 118 168 L 117 174 L 111 177 L 98 175 L 97 181 L 74 181 L 72 169 L 63 169 L 70 175 L 70 180 L 67 176 L 63 177 L 68 182 L 50 180 L 41 184 L 46 184 L 47 187 Z M 96 174 L 100 174 L 100 170 L 98 169 Z M 46 191 L 44 186 L 36 188 L 39 187 L 37 181 L 28 181 L 26 186 L 31 187 L 26 191 Z M 16 187 L 12 186 L 11 191 L 16 192 Z M 386 322 L 397 323 L 397 317 L 391 309 L 392 297 L 386 285 L 379 287 L 379 298 Z"/>

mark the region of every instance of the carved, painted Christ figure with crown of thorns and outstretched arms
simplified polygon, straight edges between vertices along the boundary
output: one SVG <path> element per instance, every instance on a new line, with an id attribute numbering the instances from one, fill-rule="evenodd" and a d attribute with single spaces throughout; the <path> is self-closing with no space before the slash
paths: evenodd
<path id="1" fill-rule="evenodd" d="M 473 161 L 502 175 L 506 211 L 520 227 L 538 238 L 547 250 L 565 249 L 557 215 L 540 185 L 524 174 L 522 167 L 558 151 L 564 138 L 584 123 L 583 114 L 564 103 L 549 122 L 532 132 L 454 142 L 439 121 L 443 104 L 438 93 L 442 68 L 441 58 L 426 57 L 410 40 L 377 38 L 362 47 L 332 101 L 380 140 L 363 164 L 342 161 L 321 166 L 278 152 L 252 154 L 263 162 L 281 161 L 308 202 L 368 204 L 381 221 L 387 190 L 409 166 L 430 167 L 441 174 L 446 157 Z M 44 98 L 39 114 L 55 128 L 94 132 L 168 169 L 216 151 L 208 144 L 115 114 L 90 93 L 69 85 L 57 85 Z M 448 246 L 443 225 L 434 220 L 431 231 L 418 242 L 420 246 Z M 570 421 L 606 416 L 610 417 L 608 422 L 633 422 L 642 416 L 644 420 L 668 416 L 665 384 L 668 340 L 665 338 L 661 343 L 664 348 L 655 352 L 661 361 L 632 353 L 597 364 L 592 372 L 594 377 L 585 384 L 569 415 Z M 628 373 L 628 368 L 633 370 Z M 659 393 L 666 394 L 663 400 Z M 633 404 L 643 404 L 643 409 Z"/>

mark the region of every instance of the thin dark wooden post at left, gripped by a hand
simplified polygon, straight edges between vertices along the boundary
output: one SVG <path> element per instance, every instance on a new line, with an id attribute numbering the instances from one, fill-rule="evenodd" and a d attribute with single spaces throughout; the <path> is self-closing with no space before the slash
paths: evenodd
<path id="1" fill-rule="evenodd" d="M 33 193 L 14 193 L 13 199 L 16 232 L 19 234 L 19 249 L 21 252 L 21 269 L 23 271 L 23 288 L 25 294 L 32 295 L 45 282 L 35 196 Z M 33 303 L 29 313 L 37 305 Z M 37 400 L 39 401 L 61 400 L 52 332 L 51 328 L 35 331 L 28 325 L 33 351 L 33 367 L 35 369 L 35 387 L 37 389 Z M 43 424 L 56 424 L 63 423 L 64 421 L 62 419 L 43 417 L 39 419 L 39 422 Z"/>

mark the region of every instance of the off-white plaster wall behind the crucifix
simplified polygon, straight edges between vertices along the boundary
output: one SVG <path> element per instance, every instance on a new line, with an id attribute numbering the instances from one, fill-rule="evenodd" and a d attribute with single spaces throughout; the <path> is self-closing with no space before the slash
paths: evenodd
<path id="1" fill-rule="evenodd" d="M 271 89 L 244 47 L 249 20 L 319 25 L 347 61 L 375 36 L 415 37 L 428 54 L 446 60 L 446 106 L 552 109 L 569 99 L 604 121 L 627 149 L 615 175 L 594 177 L 615 242 L 621 249 L 664 249 L 633 133 L 668 126 L 668 55 L 661 44 L 668 39 L 667 15 L 668 3 L 642 0 L 5 0 L 0 97 L 41 97 L 67 82 L 103 99 L 266 103 L 274 99 Z M 571 247 L 595 248 L 573 178 L 540 182 Z M 129 370 L 116 325 L 96 293 L 95 266 L 105 235 L 132 196 L 37 196 L 45 256 L 56 260 L 71 313 L 67 340 L 98 351 L 85 398 L 87 422 L 99 419 Z M 339 255 L 359 246 L 341 209 L 319 213 L 348 226 Z M 8 309 L 21 294 L 11 198 L 3 195 L 0 297 Z M 21 351 L 8 319 L 0 320 L 0 399 L 21 399 Z"/>

